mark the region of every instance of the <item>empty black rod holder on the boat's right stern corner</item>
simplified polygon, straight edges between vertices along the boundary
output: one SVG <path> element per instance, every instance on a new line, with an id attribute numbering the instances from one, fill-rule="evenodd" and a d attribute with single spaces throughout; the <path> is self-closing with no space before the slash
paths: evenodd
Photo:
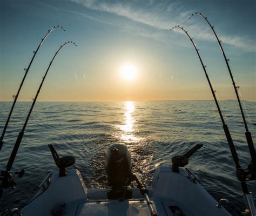
<path id="1" fill-rule="evenodd" d="M 188 164 L 188 158 L 192 156 L 193 153 L 195 153 L 197 150 L 202 147 L 203 144 L 197 144 L 194 146 L 191 150 L 188 150 L 185 154 L 182 156 L 174 156 L 172 157 L 172 171 L 173 172 L 179 172 L 179 167 L 184 167 Z"/>

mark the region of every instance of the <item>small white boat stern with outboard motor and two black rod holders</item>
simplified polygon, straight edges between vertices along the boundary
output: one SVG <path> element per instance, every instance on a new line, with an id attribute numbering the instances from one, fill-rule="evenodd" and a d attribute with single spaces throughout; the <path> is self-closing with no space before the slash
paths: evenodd
<path id="1" fill-rule="evenodd" d="M 113 143 L 106 152 L 106 172 L 111 189 L 87 188 L 75 164 L 75 157 L 60 158 L 49 145 L 59 172 L 45 177 L 38 192 L 21 210 L 3 215 L 231 215 L 208 194 L 198 178 L 184 167 L 188 158 L 203 145 L 197 144 L 182 156 L 172 158 L 172 166 L 159 166 L 150 186 L 131 173 L 127 146 Z M 138 187 L 129 188 L 135 180 Z"/>

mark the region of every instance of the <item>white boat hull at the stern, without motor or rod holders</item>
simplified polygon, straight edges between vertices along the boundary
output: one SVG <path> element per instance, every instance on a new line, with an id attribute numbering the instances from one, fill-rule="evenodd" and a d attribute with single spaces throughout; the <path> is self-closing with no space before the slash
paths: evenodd
<path id="1" fill-rule="evenodd" d="M 171 167 L 158 167 L 147 189 L 158 215 L 230 215 L 223 207 L 217 207 L 217 201 L 182 169 L 176 173 Z M 132 199 L 123 201 L 107 199 L 109 191 L 86 188 L 78 170 L 69 170 L 65 177 L 56 173 L 21 213 L 24 216 L 150 215 L 138 188 L 131 189 Z"/>

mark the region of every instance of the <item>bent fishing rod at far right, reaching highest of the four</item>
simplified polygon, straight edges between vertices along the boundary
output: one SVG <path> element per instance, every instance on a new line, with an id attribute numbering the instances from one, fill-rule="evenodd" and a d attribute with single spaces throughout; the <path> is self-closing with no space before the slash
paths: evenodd
<path id="1" fill-rule="evenodd" d="M 188 19 L 191 19 L 193 17 L 193 15 L 194 14 L 192 14 L 191 17 L 189 17 Z M 245 136 L 246 136 L 248 148 L 249 148 L 249 151 L 250 151 L 250 154 L 251 154 L 253 170 L 254 170 L 254 172 L 256 172 L 256 153 L 255 153 L 255 149 L 254 149 L 254 145 L 253 145 L 252 134 L 251 134 L 251 132 L 248 129 L 248 126 L 247 126 L 247 123 L 246 123 L 246 119 L 245 119 L 245 114 L 244 114 L 244 111 L 242 110 L 242 105 L 241 105 L 241 101 L 240 101 L 239 94 L 238 94 L 238 90 L 239 90 L 240 87 L 235 85 L 234 78 L 233 78 L 233 75 L 232 75 L 232 72 L 231 72 L 231 69 L 230 69 L 230 65 L 228 64 L 230 59 L 228 59 L 226 57 L 224 49 L 223 49 L 223 47 L 221 45 L 221 40 L 219 40 L 219 38 L 217 36 L 217 33 L 214 30 L 214 26 L 211 25 L 211 23 L 208 21 L 207 17 L 205 17 L 204 15 L 202 15 L 201 13 L 198 13 L 198 12 L 196 12 L 195 15 L 198 15 L 198 16 L 203 17 L 205 19 L 205 21 L 210 25 L 210 27 L 211 27 L 211 29 L 212 29 L 216 39 L 218 40 L 218 43 L 219 43 L 219 46 L 220 46 L 220 50 L 223 53 L 223 57 L 225 59 L 226 65 L 227 65 L 228 72 L 230 73 L 230 77 L 231 77 L 232 84 L 233 84 L 233 87 L 234 87 L 235 95 L 237 96 L 238 104 L 239 104 L 240 111 L 241 111 L 241 114 L 242 114 L 242 120 L 244 121 Z"/>

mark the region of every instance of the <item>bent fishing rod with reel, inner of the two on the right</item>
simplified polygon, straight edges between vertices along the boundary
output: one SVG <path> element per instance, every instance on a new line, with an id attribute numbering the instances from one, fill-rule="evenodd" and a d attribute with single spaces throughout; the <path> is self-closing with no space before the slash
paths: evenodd
<path id="1" fill-rule="evenodd" d="M 254 177 L 252 177 L 253 176 L 252 173 L 247 173 L 244 170 L 242 170 L 242 168 L 241 168 L 241 166 L 239 164 L 239 159 L 238 159 L 237 151 L 235 150 L 235 147 L 234 147 L 234 144 L 233 144 L 233 140 L 232 140 L 230 131 L 228 130 L 228 127 L 227 127 L 227 125 L 225 123 L 225 120 L 223 118 L 223 114 L 221 113 L 220 106 L 219 106 L 218 100 L 217 100 L 216 95 L 215 95 L 216 91 L 213 90 L 210 78 L 208 77 L 208 74 L 206 72 L 206 65 L 204 65 L 203 60 L 201 59 L 201 56 L 199 54 L 199 49 L 197 49 L 197 46 L 193 42 L 193 39 L 190 37 L 190 35 L 188 35 L 187 31 L 183 27 L 180 27 L 179 25 L 178 26 L 176 25 L 176 26 L 172 27 L 172 29 L 170 29 L 170 30 L 172 31 L 174 28 L 179 28 L 179 29 L 183 30 L 186 33 L 186 35 L 188 36 L 188 38 L 190 38 L 190 40 L 191 40 L 191 42 L 192 42 L 192 44 L 194 46 L 194 49 L 196 49 L 196 52 L 197 52 L 197 55 L 199 57 L 200 63 L 202 65 L 203 69 L 204 69 L 205 76 L 207 78 L 208 84 L 210 85 L 212 96 L 213 96 L 215 104 L 217 106 L 221 122 L 223 123 L 223 129 L 224 129 L 224 132 L 225 132 L 225 135 L 226 135 L 226 139 L 227 139 L 227 143 L 228 143 L 228 146 L 230 147 L 230 151 L 231 151 L 234 163 L 235 163 L 235 168 L 237 170 L 237 178 L 238 178 L 238 180 L 241 183 L 242 192 L 244 193 L 244 198 L 246 200 L 247 207 L 250 210 L 251 215 L 254 216 L 255 207 L 254 207 L 252 193 L 250 193 L 248 191 L 248 187 L 247 187 L 247 184 L 245 182 L 247 179 L 254 178 Z M 238 175 L 238 173 L 240 175 Z M 250 180 L 253 180 L 253 179 L 250 179 Z"/>

